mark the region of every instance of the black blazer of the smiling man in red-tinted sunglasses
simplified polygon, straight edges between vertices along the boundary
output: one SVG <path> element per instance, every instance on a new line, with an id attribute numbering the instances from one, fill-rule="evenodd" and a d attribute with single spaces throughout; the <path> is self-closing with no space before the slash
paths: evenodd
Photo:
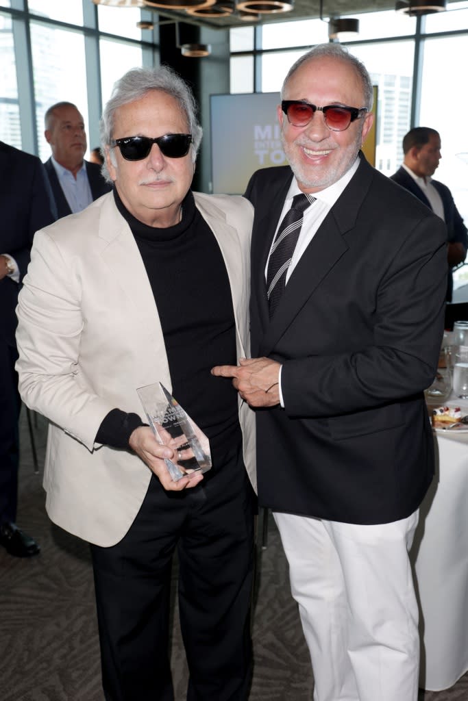
<path id="1" fill-rule="evenodd" d="M 257 411 L 260 504 L 341 522 L 407 517 L 434 472 L 423 390 L 443 334 L 446 227 L 361 163 L 272 321 L 265 265 L 292 179 L 250 179 L 252 356 L 282 363 L 285 408 Z"/>

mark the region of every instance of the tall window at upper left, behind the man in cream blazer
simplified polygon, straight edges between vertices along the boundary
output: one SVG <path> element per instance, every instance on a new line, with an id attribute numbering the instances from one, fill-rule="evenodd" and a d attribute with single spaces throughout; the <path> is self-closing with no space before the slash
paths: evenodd
<path id="1" fill-rule="evenodd" d="M 0 0 L 0 139 L 45 161 L 44 114 L 67 100 L 83 114 L 88 147 L 97 146 L 114 81 L 156 63 L 155 35 L 137 27 L 150 18 L 91 0 Z"/>

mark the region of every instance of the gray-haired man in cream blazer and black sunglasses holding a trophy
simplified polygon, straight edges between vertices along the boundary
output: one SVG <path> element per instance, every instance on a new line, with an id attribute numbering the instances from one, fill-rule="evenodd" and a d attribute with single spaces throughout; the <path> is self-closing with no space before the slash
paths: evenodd
<path id="1" fill-rule="evenodd" d="M 123 76 L 102 118 L 114 191 L 36 233 L 18 305 L 20 392 L 51 422 L 46 508 L 92 544 L 112 701 L 173 699 L 176 547 L 187 698 L 248 696 L 253 412 L 210 367 L 249 353 L 253 208 L 190 191 L 200 140 L 170 69 Z M 136 391 L 158 382 L 208 435 L 205 475 L 171 479 Z"/>

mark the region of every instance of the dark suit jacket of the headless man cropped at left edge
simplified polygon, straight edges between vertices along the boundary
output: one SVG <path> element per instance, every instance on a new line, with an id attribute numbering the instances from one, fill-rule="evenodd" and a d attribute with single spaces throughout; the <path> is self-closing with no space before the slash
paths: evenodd
<path id="1" fill-rule="evenodd" d="M 0 253 L 13 256 L 20 281 L 29 264 L 32 238 L 38 229 L 57 218 L 51 186 L 39 158 L 0 142 Z M 15 346 L 16 314 L 20 285 L 0 280 L 0 340 Z"/>

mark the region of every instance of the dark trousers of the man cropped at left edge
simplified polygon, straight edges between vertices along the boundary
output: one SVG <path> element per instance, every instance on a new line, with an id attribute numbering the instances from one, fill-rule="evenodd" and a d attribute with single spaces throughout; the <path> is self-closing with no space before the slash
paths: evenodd
<path id="1" fill-rule="evenodd" d="M 0 523 L 16 520 L 21 400 L 15 362 L 18 351 L 0 338 Z"/>

